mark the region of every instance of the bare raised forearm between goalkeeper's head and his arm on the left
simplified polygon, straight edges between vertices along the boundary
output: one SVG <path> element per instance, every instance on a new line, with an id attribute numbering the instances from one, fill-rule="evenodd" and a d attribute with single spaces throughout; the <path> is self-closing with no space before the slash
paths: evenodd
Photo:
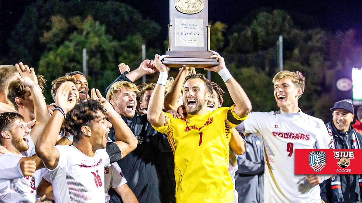
<path id="1" fill-rule="evenodd" d="M 177 111 L 179 107 L 177 100 L 180 96 L 182 85 L 184 85 L 186 76 L 192 73 L 195 73 L 195 68 L 180 68 L 180 72 L 165 95 L 164 107 L 166 111 Z"/>

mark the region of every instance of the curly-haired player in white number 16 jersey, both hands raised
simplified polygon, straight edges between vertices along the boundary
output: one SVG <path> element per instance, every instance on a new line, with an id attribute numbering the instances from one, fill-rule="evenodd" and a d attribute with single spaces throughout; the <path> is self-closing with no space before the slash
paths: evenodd
<path id="1" fill-rule="evenodd" d="M 35 149 L 50 171 L 55 202 L 104 202 L 104 167 L 134 150 L 137 139 L 98 90 L 86 102 L 68 99 L 72 85 L 64 82 L 56 91 L 54 113 Z M 55 146 L 63 121 L 74 135 L 71 146 Z M 117 141 L 106 146 L 112 125 Z"/>

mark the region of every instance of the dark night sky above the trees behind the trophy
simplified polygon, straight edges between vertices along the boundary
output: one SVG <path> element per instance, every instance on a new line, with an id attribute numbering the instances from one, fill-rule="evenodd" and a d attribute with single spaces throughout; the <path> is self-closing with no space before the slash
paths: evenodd
<path id="1" fill-rule="evenodd" d="M 20 20 L 26 5 L 33 2 L 35 0 L 1 0 L 1 55 L 8 52 L 5 42 L 10 36 L 10 31 Z M 121 2 L 131 5 L 144 17 L 159 23 L 163 27 L 165 39 L 167 38 L 168 0 L 123 0 Z M 262 8 L 286 9 L 294 13 L 310 15 L 323 29 L 331 31 L 354 29 L 362 33 L 362 0 L 209 0 L 209 21 L 221 21 L 230 28 L 252 10 Z M 359 40 L 361 38 L 362 34 Z"/>

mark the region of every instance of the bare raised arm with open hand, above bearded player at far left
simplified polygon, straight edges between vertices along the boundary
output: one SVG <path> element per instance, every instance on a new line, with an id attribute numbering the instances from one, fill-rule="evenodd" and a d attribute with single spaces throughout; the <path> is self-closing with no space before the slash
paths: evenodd
<path id="1" fill-rule="evenodd" d="M 29 68 L 28 65 L 24 65 L 22 62 L 15 64 L 15 68 L 20 74 L 20 76 L 17 76 L 19 81 L 24 86 L 30 88 L 30 93 L 33 97 L 36 122 L 34 127 L 31 129 L 30 136 L 34 144 L 36 144 L 42 130 L 50 119 L 49 111 L 45 103 L 42 90 L 38 85 L 38 78 L 35 75 L 34 69 Z"/>

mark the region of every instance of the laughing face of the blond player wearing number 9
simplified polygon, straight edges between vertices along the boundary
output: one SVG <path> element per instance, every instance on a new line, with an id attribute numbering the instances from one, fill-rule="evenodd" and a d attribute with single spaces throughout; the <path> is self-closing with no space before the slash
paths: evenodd
<path id="1" fill-rule="evenodd" d="M 290 78 L 282 78 L 274 83 L 274 98 L 283 111 L 287 111 L 292 105 L 298 105 L 300 95 L 302 90 L 297 88 Z"/>

